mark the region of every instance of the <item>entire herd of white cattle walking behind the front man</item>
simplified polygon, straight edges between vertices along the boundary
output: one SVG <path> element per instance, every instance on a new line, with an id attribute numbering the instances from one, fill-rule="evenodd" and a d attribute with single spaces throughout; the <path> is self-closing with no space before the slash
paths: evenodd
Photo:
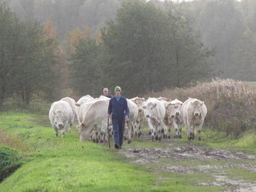
<path id="1" fill-rule="evenodd" d="M 62 137 L 66 129 L 72 132 L 71 126 L 75 117 L 79 123 L 78 132 L 80 141 L 92 140 L 104 143 L 108 140 L 108 106 L 110 98 L 100 96 L 93 98 L 90 95 L 81 97 L 77 102 L 65 97 L 53 102 L 49 111 L 49 118 L 56 137 L 62 130 Z M 181 138 L 182 126 L 185 124 L 187 138 L 194 139 L 195 126 L 198 126 L 198 140 L 201 140 L 201 130 L 207 113 L 203 101 L 188 98 L 184 103 L 178 99 L 170 100 L 163 97 L 127 99 L 130 109 L 129 120 L 125 123 L 125 135 L 128 143 L 134 136 L 141 136 L 141 124 L 147 120 L 152 141 L 170 139 L 170 129 L 173 126 L 175 138 Z M 138 128 L 138 130 L 137 130 Z M 111 118 L 109 129 L 112 129 Z"/>

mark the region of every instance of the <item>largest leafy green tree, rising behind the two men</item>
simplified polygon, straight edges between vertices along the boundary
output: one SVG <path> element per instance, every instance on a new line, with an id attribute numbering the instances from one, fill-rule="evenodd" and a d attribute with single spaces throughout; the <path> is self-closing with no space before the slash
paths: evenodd
<path id="1" fill-rule="evenodd" d="M 200 36 L 174 7 L 122 4 L 115 22 L 102 30 L 108 82 L 125 87 L 127 96 L 164 87 L 180 87 L 210 75 L 209 56 Z"/>

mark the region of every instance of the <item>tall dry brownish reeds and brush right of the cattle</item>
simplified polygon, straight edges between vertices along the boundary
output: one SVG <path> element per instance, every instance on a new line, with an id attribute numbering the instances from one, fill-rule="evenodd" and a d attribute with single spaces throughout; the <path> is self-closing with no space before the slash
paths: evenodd
<path id="1" fill-rule="evenodd" d="M 147 96 L 177 98 L 183 102 L 188 97 L 200 99 L 207 106 L 205 125 L 233 138 L 246 130 L 256 129 L 256 87 L 242 81 L 213 79 L 195 87 L 166 89 Z"/>

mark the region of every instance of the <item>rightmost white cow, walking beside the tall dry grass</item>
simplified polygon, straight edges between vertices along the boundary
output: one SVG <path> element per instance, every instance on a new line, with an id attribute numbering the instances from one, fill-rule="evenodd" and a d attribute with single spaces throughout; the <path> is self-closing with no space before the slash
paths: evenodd
<path id="1" fill-rule="evenodd" d="M 198 126 L 198 140 L 201 140 L 201 131 L 204 123 L 204 118 L 207 114 L 207 109 L 204 101 L 189 98 L 181 107 L 181 116 L 186 125 L 187 138 L 194 139 L 195 126 Z"/>

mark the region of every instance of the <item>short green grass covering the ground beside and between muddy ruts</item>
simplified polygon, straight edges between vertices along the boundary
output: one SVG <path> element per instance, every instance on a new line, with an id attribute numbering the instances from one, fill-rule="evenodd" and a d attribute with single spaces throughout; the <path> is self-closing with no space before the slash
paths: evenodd
<path id="1" fill-rule="evenodd" d="M 161 158 L 159 163 L 131 163 L 122 153 L 108 145 L 79 142 L 77 131 L 67 133 L 65 138 L 56 138 L 47 115 L 30 113 L 0 113 L 0 134 L 8 145 L 18 151 L 22 167 L 0 183 L 0 191 L 220 191 L 228 186 L 202 185 L 212 183 L 210 174 L 173 173 L 160 169 L 166 165 L 222 165 L 223 161 L 170 162 Z M 184 135 L 184 134 L 183 134 Z M 245 134 L 240 140 L 217 138 L 214 132 L 203 132 L 204 141 L 193 141 L 204 146 L 248 150 L 256 154 L 255 135 Z M 10 142 L 11 141 L 11 142 Z M 172 142 L 172 141 L 170 141 Z M 129 148 L 154 148 L 182 146 L 186 138 L 170 142 L 150 142 L 136 138 Z M 113 146 L 113 143 L 112 143 Z M 243 163 L 242 161 L 237 161 Z M 246 163 L 253 163 L 246 160 Z M 255 162 L 254 162 L 255 163 Z M 256 164 L 256 163 L 255 163 Z M 252 181 L 253 172 L 226 168 L 226 176 Z"/>

